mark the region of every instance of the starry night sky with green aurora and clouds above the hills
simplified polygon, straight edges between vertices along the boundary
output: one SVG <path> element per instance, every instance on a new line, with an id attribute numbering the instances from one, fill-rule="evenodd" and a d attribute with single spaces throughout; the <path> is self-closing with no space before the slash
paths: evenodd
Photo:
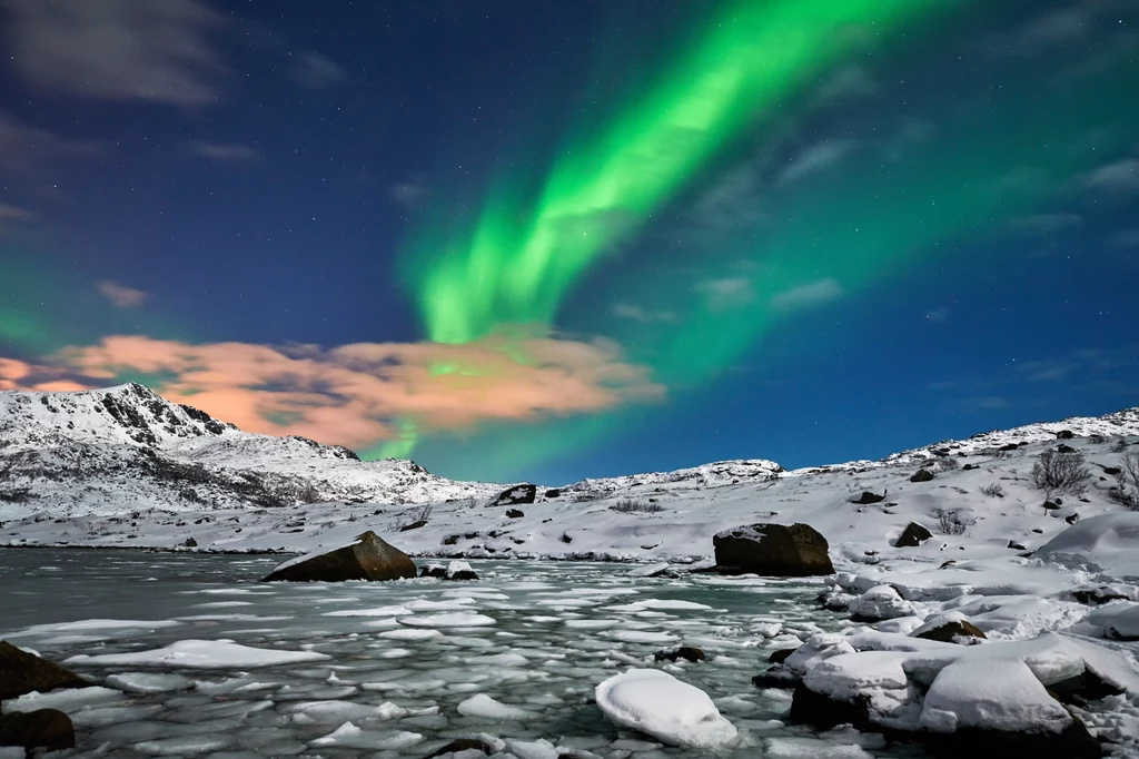
<path id="1" fill-rule="evenodd" d="M 0 390 L 547 483 L 1139 405 L 1133 0 L 0 0 Z"/>

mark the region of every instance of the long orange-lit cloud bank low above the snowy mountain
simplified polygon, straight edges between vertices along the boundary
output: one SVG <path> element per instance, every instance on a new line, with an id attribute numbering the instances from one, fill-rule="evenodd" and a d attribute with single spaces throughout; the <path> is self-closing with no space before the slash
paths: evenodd
<path id="1" fill-rule="evenodd" d="M 9 385 L 35 381 L 9 367 Z M 191 345 L 142 335 L 58 353 L 48 379 L 98 386 L 138 374 L 172 377 L 162 393 L 265 434 L 372 446 L 481 422 L 532 422 L 663 398 L 648 370 L 612 341 L 493 336 L 477 343 L 357 343 L 322 350 L 251 343 Z M 23 374 L 21 372 L 23 370 Z"/>

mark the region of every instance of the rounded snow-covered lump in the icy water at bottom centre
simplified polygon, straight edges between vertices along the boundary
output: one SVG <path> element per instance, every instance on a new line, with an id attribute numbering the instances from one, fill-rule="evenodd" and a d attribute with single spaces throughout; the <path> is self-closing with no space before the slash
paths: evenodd
<path id="1" fill-rule="evenodd" d="M 672 745 L 724 749 L 739 741 L 704 691 L 658 669 L 630 669 L 597 686 L 597 705 L 609 721 Z"/>

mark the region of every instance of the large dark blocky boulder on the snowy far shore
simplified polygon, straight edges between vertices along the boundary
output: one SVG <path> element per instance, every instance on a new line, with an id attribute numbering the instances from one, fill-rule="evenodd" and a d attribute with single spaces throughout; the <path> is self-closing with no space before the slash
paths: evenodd
<path id="1" fill-rule="evenodd" d="M 827 539 L 808 524 L 751 524 L 712 539 L 721 574 L 811 577 L 834 574 Z"/>

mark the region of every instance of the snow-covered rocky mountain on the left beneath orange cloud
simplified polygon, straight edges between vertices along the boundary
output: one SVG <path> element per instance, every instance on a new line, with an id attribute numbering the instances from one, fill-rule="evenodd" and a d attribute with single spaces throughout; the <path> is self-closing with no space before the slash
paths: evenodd
<path id="1" fill-rule="evenodd" d="M 136 383 L 0 392 L 0 507 L 8 517 L 432 503 L 500 489 L 445 480 L 409 460 L 361 462 L 341 446 L 241 432 Z"/>

